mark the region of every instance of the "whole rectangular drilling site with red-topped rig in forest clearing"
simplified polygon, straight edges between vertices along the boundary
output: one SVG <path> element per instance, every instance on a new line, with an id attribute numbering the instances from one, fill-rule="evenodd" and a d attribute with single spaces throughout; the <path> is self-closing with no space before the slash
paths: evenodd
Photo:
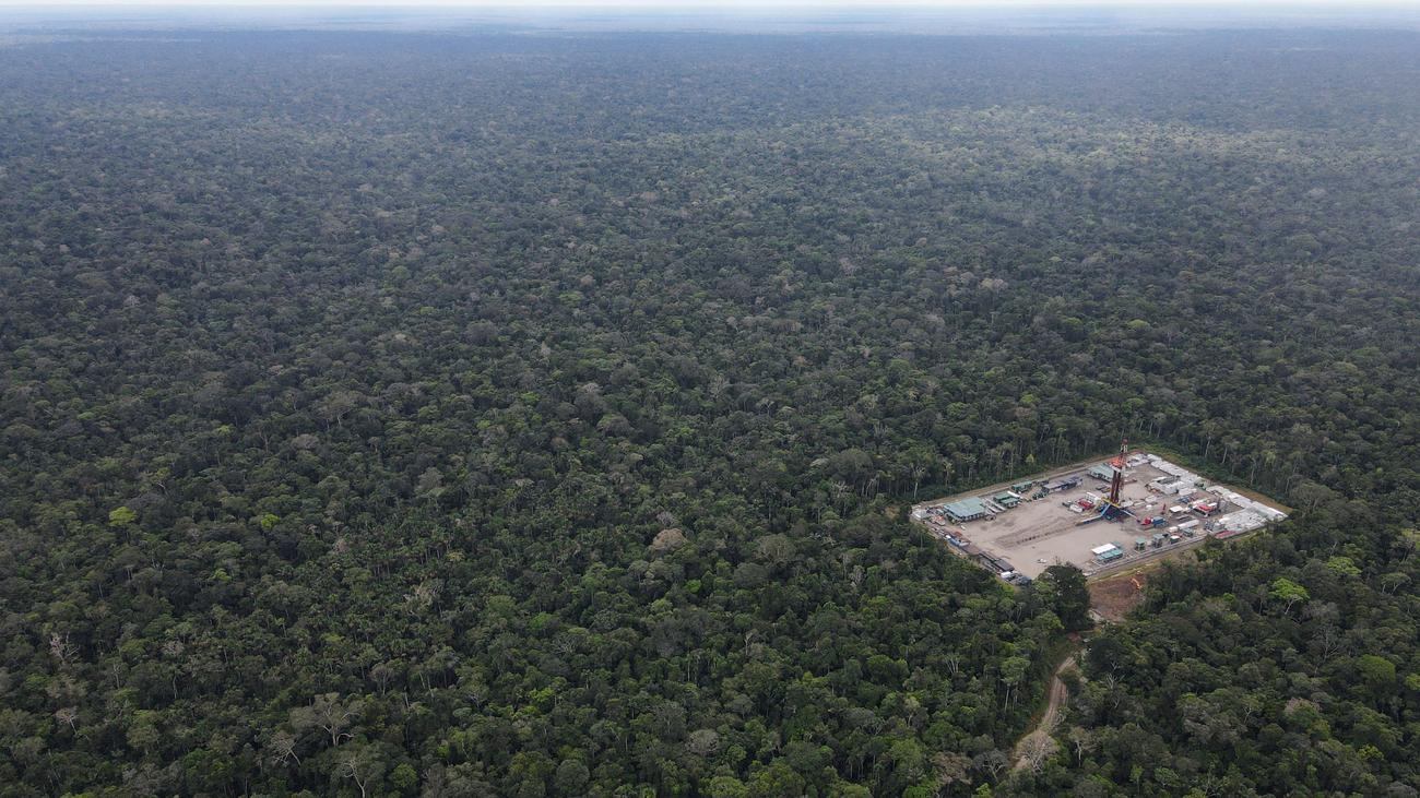
<path id="1" fill-rule="evenodd" d="M 1112 460 L 927 501 L 912 515 L 957 554 L 1021 585 L 1055 564 L 1098 576 L 1287 517 L 1127 444 Z"/>

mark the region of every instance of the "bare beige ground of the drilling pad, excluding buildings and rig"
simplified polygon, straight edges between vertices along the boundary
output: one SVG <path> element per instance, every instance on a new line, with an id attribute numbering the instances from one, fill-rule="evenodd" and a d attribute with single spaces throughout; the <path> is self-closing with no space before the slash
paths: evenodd
<path id="1" fill-rule="evenodd" d="M 1096 517 L 1098 511 L 1081 508 L 1081 501 L 1109 494 L 1109 483 L 1089 474 L 1091 467 L 1100 463 L 1103 460 L 1091 460 L 1052 471 L 1052 480 L 1079 477 L 1081 481 L 1075 487 L 1037 497 L 1038 481 L 1030 490 L 1020 491 L 1022 498 L 1017 507 L 1004 508 L 985 518 L 954 523 L 941 514 L 941 508 L 963 498 L 997 496 L 1007 486 L 923 503 L 913 508 L 913 517 L 947 541 L 957 554 L 970 557 L 990 569 L 1011 569 L 1034 579 L 1058 562 L 1075 564 L 1086 575 L 1139 565 L 1170 551 L 1201 544 L 1210 534 L 1227 537 L 1235 530 L 1221 527 L 1220 520 L 1237 518 L 1238 515 L 1234 515 L 1237 513 L 1257 510 L 1250 498 L 1224 486 L 1207 483 L 1206 490 L 1201 484 L 1204 480 L 1196 474 L 1180 480 L 1187 483 L 1183 494 L 1191 494 L 1187 501 L 1180 501 L 1179 494 L 1163 493 L 1167 487 L 1159 486 L 1156 480 L 1169 480 L 1173 476 L 1167 473 L 1169 470 L 1177 473 L 1181 469 L 1162 460 L 1146 460 L 1143 453 L 1135 453 L 1130 466 L 1125 469 L 1125 486 L 1120 491 L 1120 503 L 1135 517 L 1082 523 Z M 1217 504 L 1217 511 L 1206 515 L 1193 510 L 1191 505 L 1198 501 Z M 1170 511 L 1179 507 L 1183 511 Z M 1164 524 L 1146 527 L 1137 521 L 1154 517 L 1163 517 Z M 1197 524 L 1190 530 L 1179 528 L 1180 524 L 1187 525 L 1190 521 Z M 1154 535 L 1160 532 L 1163 538 L 1156 541 Z M 1139 540 L 1143 540 L 1142 550 Z M 1092 552 L 1108 544 L 1118 545 L 1123 555 L 1116 559 L 1100 559 Z"/>

